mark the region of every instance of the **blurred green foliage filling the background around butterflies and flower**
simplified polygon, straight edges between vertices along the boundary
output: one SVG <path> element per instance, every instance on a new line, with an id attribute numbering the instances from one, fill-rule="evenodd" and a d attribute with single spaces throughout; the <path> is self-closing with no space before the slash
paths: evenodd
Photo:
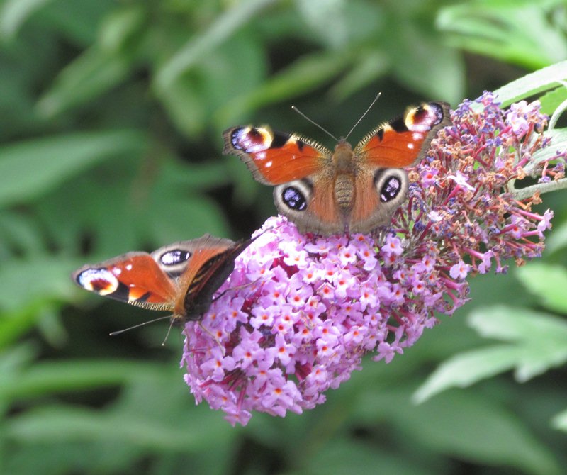
<path id="1" fill-rule="evenodd" d="M 456 106 L 566 60 L 566 8 L 1 0 L 0 473 L 563 473 L 561 194 L 544 197 L 556 229 L 537 265 L 476 277 L 468 306 L 405 355 L 367 360 L 315 410 L 254 415 L 247 427 L 194 407 L 181 337 L 159 345 L 165 323 L 108 337 L 149 314 L 91 298 L 69 273 L 206 232 L 242 238 L 273 214 L 269 189 L 221 156 L 224 128 L 251 121 L 320 136 L 291 113 L 295 103 L 340 135 L 377 91 L 361 135 L 416 101 Z M 564 99 L 547 94 L 546 111 Z M 487 346 L 466 326 L 471 311 L 473 328 L 505 343 Z M 488 379 L 512 368 L 522 381 L 539 376 Z M 425 398 L 481 379 L 412 404 L 420 384 Z"/>

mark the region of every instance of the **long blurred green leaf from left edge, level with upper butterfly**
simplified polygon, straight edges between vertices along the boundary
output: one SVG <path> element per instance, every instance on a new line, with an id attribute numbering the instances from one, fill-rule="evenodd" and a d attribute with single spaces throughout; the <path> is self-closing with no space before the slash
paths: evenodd
<path id="1" fill-rule="evenodd" d="M 0 206 L 30 201 L 97 162 L 147 147 L 136 130 L 59 135 L 0 147 Z"/>

